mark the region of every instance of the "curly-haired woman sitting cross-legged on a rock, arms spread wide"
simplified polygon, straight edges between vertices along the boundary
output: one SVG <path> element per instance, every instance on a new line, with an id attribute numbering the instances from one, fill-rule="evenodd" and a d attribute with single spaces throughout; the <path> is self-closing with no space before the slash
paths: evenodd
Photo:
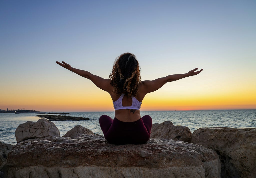
<path id="1" fill-rule="evenodd" d="M 91 80 L 97 87 L 108 92 L 113 100 L 115 118 L 100 117 L 100 127 L 109 143 L 142 144 L 150 138 L 152 119 L 141 117 L 140 107 L 147 93 L 154 92 L 165 83 L 199 74 L 198 68 L 184 74 L 168 75 L 152 81 L 141 81 L 140 66 L 132 53 L 124 53 L 116 58 L 109 79 L 103 79 L 90 72 L 76 69 L 62 61 L 60 66 Z"/>

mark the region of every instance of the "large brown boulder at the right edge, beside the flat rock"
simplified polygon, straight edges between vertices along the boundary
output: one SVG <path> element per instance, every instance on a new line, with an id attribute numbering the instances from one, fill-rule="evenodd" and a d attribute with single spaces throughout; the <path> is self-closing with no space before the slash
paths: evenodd
<path id="1" fill-rule="evenodd" d="M 256 177 L 256 128 L 199 128 L 191 142 L 219 154 L 221 177 Z"/>

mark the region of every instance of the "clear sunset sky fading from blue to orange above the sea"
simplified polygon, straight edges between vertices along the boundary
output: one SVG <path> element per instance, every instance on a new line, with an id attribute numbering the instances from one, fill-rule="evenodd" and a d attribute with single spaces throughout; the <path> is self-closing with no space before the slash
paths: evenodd
<path id="1" fill-rule="evenodd" d="M 57 65 L 108 78 L 136 55 L 142 80 L 187 73 L 141 110 L 256 109 L 256 1 L 0 1 L 0 109 L 114 111 L 110 95 Z"/>

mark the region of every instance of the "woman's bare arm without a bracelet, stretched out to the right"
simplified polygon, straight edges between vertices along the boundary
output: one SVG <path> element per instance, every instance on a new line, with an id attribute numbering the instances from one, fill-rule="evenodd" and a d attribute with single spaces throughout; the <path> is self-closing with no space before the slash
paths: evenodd
<path id="1" fill-rule="evenodd" d="M 161 88 L 164 84 L 166 84 L 167 82 L 173 82 L 179 79 L 183 79 L 185 77 L 190 77 L 193 75 L 197 75 L 199 74 L 203 69 L 198 70 L 198 68 L 195 68 L 193 70 L 190 70 L 188 73 L 184 73 L 184 74 L 174 74 L 174 75 L 168 75 L 166 77 L 162 77 L 162 78 L 158 78 L 155 80 L 146 80 L 146 81 L 142 81 L 142 92 L 144 92 L 145 94 L 150 93 L 150 92 L 154 92 L 156 90 L 158 90 L 159 88 Z"/>

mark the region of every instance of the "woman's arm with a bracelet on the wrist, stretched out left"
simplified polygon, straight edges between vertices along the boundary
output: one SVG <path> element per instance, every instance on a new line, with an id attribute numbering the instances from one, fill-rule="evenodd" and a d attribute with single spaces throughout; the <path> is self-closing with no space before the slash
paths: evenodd
<path id="1" fill-rule="evenodd" d="M 106 91 L 106 92 L 111 92 L 112 91 L 112 86 L 110 84 L 110 80 L 109 79 L 103 79 L 97 75 L 93 75 L 92 73 L 85 71 L 85 70 L 80 70 L 80 69 L 76 69 L 74 67 L 71 67 L 68 63 L 62 61 L 62 63 L 56 61 L 56 63 L 84 78 L 87 78 L 89 80 L 91 80 L 97 87 L 99 87 L 100 89 Z"/>

